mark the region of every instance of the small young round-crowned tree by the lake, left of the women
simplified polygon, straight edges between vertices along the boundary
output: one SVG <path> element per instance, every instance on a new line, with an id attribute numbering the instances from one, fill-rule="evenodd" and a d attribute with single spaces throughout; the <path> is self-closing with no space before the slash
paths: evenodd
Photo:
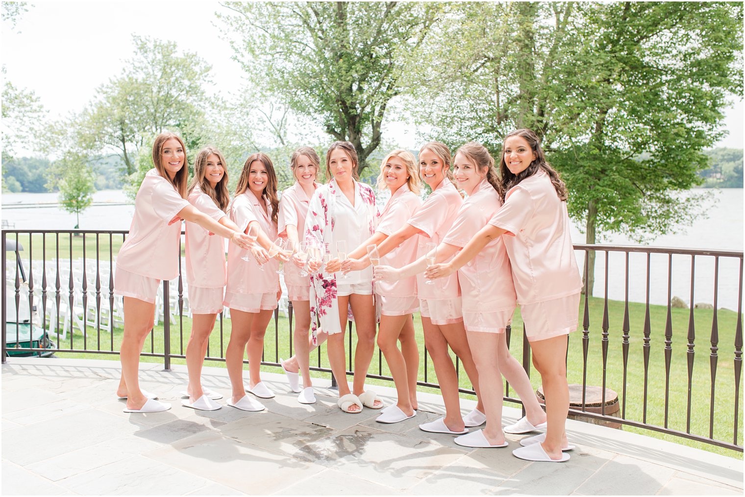
<path id="1" fill-rule="evenodd" d="M 93 202 L 94 180 L 87 157 L 77 151 L 69 151 L 49 169 L 47 188 L 60 189 L 62 208 L 75 214 L 75 229 L 80 227 L 80 212 Z"/>

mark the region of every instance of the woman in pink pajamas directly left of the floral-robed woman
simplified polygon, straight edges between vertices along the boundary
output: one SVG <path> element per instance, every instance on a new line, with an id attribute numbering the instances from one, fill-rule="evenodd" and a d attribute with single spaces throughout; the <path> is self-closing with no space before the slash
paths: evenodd
<path id="1" fill-rule="evenodd" d="M 278 224 L 280 236 L 284 236 L 299 244 L 305 233 L 305 217 L 308 215 L 308 203 L 320 186 L 316 183 L 318 171 L 320 170 L 320 158 L 311 147 L 301 147 L 292 153 L 290 157 L 290 168 L 295 178 L 295 183 L 282 192 L 279 199 Z M 296 264 L 285 265 L 285 285 L 287 285 L 288 300 L 292 303 L 295 317 L 294 344 L 296 353 L 287 361 L 282 361 L 282 369 L 285 370 L 290 381 L 290 387 L 295 393 L 299 393 L 297 402 L 301 404 L 313 404 L 316 396 L 313 393 L 313 382 L 310 372 L 310 352 L 318 345 L 326 341 L 326 333 L 318 333 L 316 344 L 313 338 L 308 336 L 311 328 L 311 279 L 308 274 L 301 276 L 300 273 L 305 264 L 297 257 Z M 302 389 L 299 387 L 298 376 L 302 373 Z"/>

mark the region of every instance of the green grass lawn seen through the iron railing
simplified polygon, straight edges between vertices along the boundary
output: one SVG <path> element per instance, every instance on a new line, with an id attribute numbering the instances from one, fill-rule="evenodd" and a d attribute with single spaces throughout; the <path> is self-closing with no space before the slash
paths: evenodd
<path id="1" fill-rule="evenodd" d="M 580 303 L 580 325 L 583 322 L 584 301 Z M 650 306 L 650 355 L 647 370 L 647 423 L 654 425 L 664 425 L 665 422 L 665 323 L 668 308 L 666 306 Z M 644 413 L 644 355 L 643 355 L 643 330 L 644 330 L 644 313 L 645 306 L 641 303 L 629 303 L 630 332 L 629 332 L 629 353 L 627 361 L 627 378 L 626 389 L 624 392 L 624 358 L 622 352 L 624 323 L 624 303 L 618 301 L 608 301 L 608 353 L 606 362 L 606 386 L 618 393 L 619 401 L 624 402 L 625 393 L 625 415 L 629 420 L 641 421 Z M 671 310 L 672 314 L 672 354 L 670 367 L 670 386 L 669 386 L 669 414 L 668 427 L 680 431 L 686 431 L 687 422 L 687 404 L 688 404 L 688 321 L 690 311 L 688 309 Z M 587 383 L 601 385 L 603 382 L 603 356 L 602 356 L 602 329 L 600 324 L 603 322 L 603 299 L 592 298 L 589 300 L 589 352 L 587 355 Z M 696 309 L 694 311 L 694 363 L 691 375 L 691 428 L 692 434 L 700 434 L 708 437 L 709 434 L 709 412 L 711 402 L 711 326 L 714 311 L 711 309 Z M 734 408 L 735 408 L 735 326 L 737 325 L 737 313 L 720 309 L 717 311 L 718 322 L 718 361 L 717 374 L 714 381 L 714 423 L 713 437 L 717 440 L 732 441 L 733 427 L 735 425 Z M 416 327 L 416 336 L 419 341 L 420 350 L 423 351 L 424 338 L 422 334 L 419 316 L 414 319 Z M 223 320 L 223 339 L 221 343 L 220 322 L 215 324 L 215 332 L 210 338 L 209 355 L 220 357 L 224 354 L 230 335 L 230 320 Z M 280 357 L 287 358 L 290 353 L 291 333 L 289 331 L 289 322 L 284 315 L 280 314 L 277 322 L 277 337 L 275 339 L 274 323 L 270 323 L 267 330 L 266 340 L 264 343 L 264 361 L 276 362 Z M 516 312 L 513 320 L 513 334 L 511 338 L 510 350 L 513 355 L 522 361 L 522 320 L 519 311 Z M 188 335 L 191 331 L 191 320 L 184 317 L 180 323 L 171 324 L 171 353 L 183 355 L 186 351 Z M 113 337 L 107 332 L 101 332 L 101 349 L 118 350 L 121 343 L 121 329 L 115 329 Z M 354 334 L 352 334 L 354 335 Z M 162 352 L 163 350 L 163 326 L 159 323 L 156 326 L 155 334 L 151 334 L 148 341 L 145 342 L 144 352 Z M 582 383 L 583 378 L 583 332 L 579 331 L 571 334 L 568 349 L 568 381 L 570 383 Z M 72 344 L 79 349 L 96 350 L 98 349 L 98 335 L 95 329 L 89 329 L 87 343 L 83 347 L 83 337 L 80 332 L 73 337 L 68 334 L 66 344 L 62 346 L 67 348 Z M 352 344 L 355 339 L 352 336 Z M 90 353 L 59 353 L 63 357 L 72 358 L 90 358 Z M 373 364 L 370 367 L 370 373 L 388 375 L 387 364 L 384 360 L 378 361 L 379 351 L 375 350 Z M 116 355 L 98 355 L 98 358 L 108 358 L 116 360 Z M 162 358 L 143 357 L 145 362 L 162 362 Z M 174 364 L 184 364 L 183 359 L 172 359 Z M 224 367 L 224 362 L 213 361 L 212 366 Z M 329 367 L 325 351 L 321 353 L 314 352 L 312 355 L 311 365 L 320 367 Z M 349 367 L 349 356 L 347 356 L 347 366 Z M 329 373 L 314 373 L 316 376 L 326 375 Z M 426 375 L 426 376 L 425 376 Z M 427 370 L 423 361 L 419 363 L 419 379 L 428 382 L 437 382 L 434 374 L 434 367 L 431 361 L 428 361 Z M 533 387 L 539 387 L 540 379 L 531 367 L 530 380 Z M 370 380 L 371 384 L 385 384 L 391 386 L 391 382 L 384 380 Z M 464 388 L 471 388 L 465 374 L 460 375 L 460 385 Z M 422 391 L 437 392 L 437 389 L 420 387 Z M 743 413 L 743 392 L 740 389 L 739 396 L 739 419 L 738 419 L 738 445 L 742 445 L 742 413 Z M 464 398 L 473 399 L 474 396 L 462 394 Z M 512 405 L 512 404 L 509 404 Z M 621 414 L 621 413 L 619 413 Z M 712 446 L 707 443 L 686 440 L 675 437 L 670 434 L 661 434 L 656 431 L 644 430 L 642 428 L 633 428 L 624 426 L 624 430 L 644 434 L 650 437 L 670 440 L 681 443 L 686 446 L 693 446 L 719 454 L 728 455 L 729 457 L 742 458 L 741 452 L 734 452 L 729 449 Z"/>

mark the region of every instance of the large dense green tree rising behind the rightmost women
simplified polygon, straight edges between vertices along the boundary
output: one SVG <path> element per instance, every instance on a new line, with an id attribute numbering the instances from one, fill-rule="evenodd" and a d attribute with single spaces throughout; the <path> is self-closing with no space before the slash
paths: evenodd
<path id="1" fill-rule="evenodd" d="M 446 128 L 453 145 L 481 139 L 498 152 L 508 130 L 536 130 L 589 244 L 599 232 L 642 241 L 698 215 L 703 200 L 682 192 L 700 183 L 726 95 L 742 95 L 741 4 L 457 7 L 458 29 L 479 41 L 453 37 L 439 52 L 463 81 L 446 78 L 426 95 L 426 109 L 442 116 L 435 133 Z M 495 22 L 479 22 L 485 11 Z"/>

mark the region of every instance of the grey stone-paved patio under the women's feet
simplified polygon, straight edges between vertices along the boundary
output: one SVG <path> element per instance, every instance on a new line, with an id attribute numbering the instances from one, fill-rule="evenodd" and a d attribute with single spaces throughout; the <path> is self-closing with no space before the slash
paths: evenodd
<path id="1" fill-rule="evenodd" d="M 238 495 L 742 495 L 742 460 L 569 421 L 568 463 L 530 463 L 509 449 L 466 449 L 417 424 L 443 412 L 420 393 L 416 418 L 375 422 L 378 411 L 342 414 L 328 380 L 301 405 L 284 375 L 267 411 L 180 405 L 186 367 L 142 364 L 145 388 L 170 411 L 124 414 L 114 397 L 116 361 L 12 358 L 2 367 L 2 487 L 17 494 Z M 226 370 L 205 384 L 229 393 Z M 388 403 L 395 393 L 375 387 Z M 222 399 L 218 402 L 224 404 Z M 462 401 L 463 411 L 473 402 Z M 519 411 L 505 408 L 505 421 Z"/>

